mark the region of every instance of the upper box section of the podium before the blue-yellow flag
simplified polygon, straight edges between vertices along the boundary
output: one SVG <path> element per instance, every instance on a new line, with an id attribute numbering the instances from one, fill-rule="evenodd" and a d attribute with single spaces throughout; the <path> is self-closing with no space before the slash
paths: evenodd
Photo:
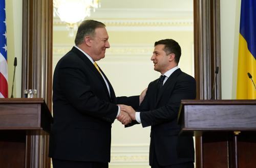
<path id="1" fill-rule="evenodd" d="M 182 131 L 256 131 L 256 100 L 182 100 Z"/>

